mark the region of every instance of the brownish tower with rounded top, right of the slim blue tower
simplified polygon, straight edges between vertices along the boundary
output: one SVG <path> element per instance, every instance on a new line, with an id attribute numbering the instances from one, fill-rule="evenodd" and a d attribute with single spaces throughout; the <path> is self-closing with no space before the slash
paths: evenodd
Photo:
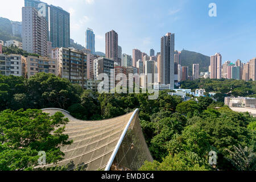
<path id="1" fill-rule="evenodd" d="M 114 30 L 105 34 L 106 58 L 116 61 L 121 65 L 121 60 L 118 59 L 118 34 Z"/>

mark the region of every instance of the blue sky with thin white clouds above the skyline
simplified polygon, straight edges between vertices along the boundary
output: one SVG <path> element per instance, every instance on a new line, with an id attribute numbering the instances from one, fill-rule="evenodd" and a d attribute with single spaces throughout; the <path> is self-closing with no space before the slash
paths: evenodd
<path id="1" fill-rule="evenodd" d="M 160 37 L 175 33 L 175 49 L 204 55 L 220 52 L 222 61 L 256 57 L 255 0 L 44 0 L 71 13 L 71 38 L 85 44 L 85 30 L 96 34 L 96 51 L 105 52 L 105 33 L 115 30 L 123 53 L 133 48 L 160 51 Z M 216 3 L 217 17 L 208 15 Z M 1 2 L 0 16 L 21 20 L 23 0 Z M 10 10 L 10 7 L 12 10 Z"/>

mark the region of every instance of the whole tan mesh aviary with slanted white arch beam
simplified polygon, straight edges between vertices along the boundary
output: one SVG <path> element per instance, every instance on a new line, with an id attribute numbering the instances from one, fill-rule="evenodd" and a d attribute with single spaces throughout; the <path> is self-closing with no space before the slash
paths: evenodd
<path id="1" fill-rule="evenodd" d="M 61 109 L 43 111 L 51 115 L 63 113 L 69 119 L 64 134 L 73 140 L 71 145 L 61 147 L 64 160 L 43 167 L 68 164 L 68 170 L 137 170 L 145 160 L 153 160 L 143 137 L 138 109 L 101 121 L 81 121 Z"/>

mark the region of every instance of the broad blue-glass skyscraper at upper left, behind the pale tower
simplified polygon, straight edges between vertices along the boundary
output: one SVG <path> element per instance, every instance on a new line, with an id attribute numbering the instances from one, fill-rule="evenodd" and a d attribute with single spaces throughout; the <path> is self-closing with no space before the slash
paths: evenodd
<path id="1" fill-rule="evenodd" d="M 49 6 L 50 12 L 50 41 L 52 47 L 69 47 L 70 44 L 70 15 L 61 7 Z"/>

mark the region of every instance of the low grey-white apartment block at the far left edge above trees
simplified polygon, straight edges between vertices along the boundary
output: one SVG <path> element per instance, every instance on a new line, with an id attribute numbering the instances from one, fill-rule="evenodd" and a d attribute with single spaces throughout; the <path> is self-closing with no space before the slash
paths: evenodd
<path id="1" fill-rule="evenodd" d="M 21 55 L 0 55 L 0 75 L 26 77 L 26 58 Z"/>

